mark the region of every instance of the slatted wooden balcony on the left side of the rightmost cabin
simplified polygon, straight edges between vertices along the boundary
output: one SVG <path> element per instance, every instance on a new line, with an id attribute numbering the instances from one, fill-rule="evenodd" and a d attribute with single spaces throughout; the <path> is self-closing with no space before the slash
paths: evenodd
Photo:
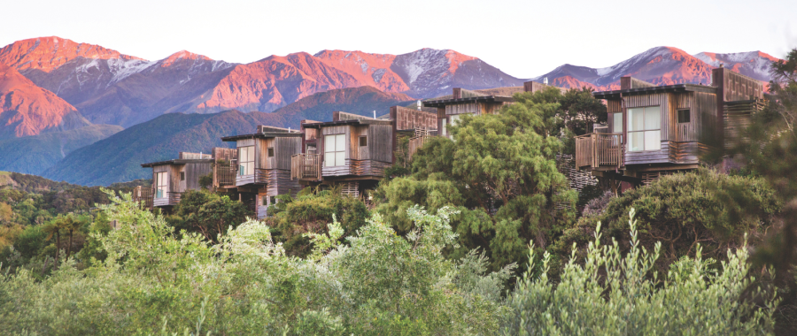
<path id="1" fill-rule="evenodd" d="M 612 170 L 623 166 L 623 134 L 592 133 L 576 136 L 578 169 Z"/>

